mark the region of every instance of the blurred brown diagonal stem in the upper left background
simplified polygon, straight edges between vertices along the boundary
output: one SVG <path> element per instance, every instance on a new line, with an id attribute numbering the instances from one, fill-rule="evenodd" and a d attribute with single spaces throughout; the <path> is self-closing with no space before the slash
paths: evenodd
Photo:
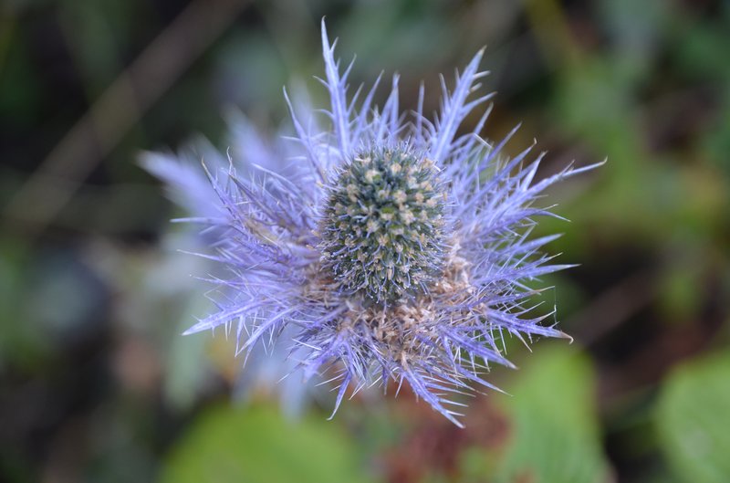
<path id="1" fill-rule="evenodd" d="M 193 0 L 120 73 L 5 206 L 6 222 L 43 229 L 101 159 L 196 58 L 230 26 L 247 0 Z"/>

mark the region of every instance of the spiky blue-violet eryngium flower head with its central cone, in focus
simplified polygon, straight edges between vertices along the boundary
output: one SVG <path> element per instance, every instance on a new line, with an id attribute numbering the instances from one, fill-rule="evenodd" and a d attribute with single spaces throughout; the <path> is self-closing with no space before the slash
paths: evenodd
<path id="1" fill-rule="evenodd" d="M 532 146 L 509 159 L 473 131 L 457 135 L 466 116 L 491 94 L 473 99 L 485 76 L 477 53 L 456 76 L 442 78 L 435 120 L 398 106 L 398 77 L 382 108 L 378 81 L 359 102 L 348 98 L 348 74 L 334 58 L 322 24 L 325 79 L 331 104 L 307 119 L 287 102 L 298 146 L 287 173 L 239 166 L 209 173 L 215 211 L 197 221 L 218 233 L 216 262 L 227 269 L 218 311 L 185 333 L 235 326 L 238 352 L 281 343 L 305 379 L 338 384 L 335 411 L 349 387 L 408 383 L 456 425 L 450 397 L 485 380 L 490 366 L 513 367 L 504 339 L 567 337 L 543 325 L 530 282 L 567 268 L 539 250 L 557 236 L 531 238 L 535 205 L 550 184 L 588 170 L 566 168 L 534 183 L 544 153 Z M 378 79 L 380 80 L 380 78 Z M 287 96 L 285 90 L 285 96 Z M 252 170 L 254 170 L 252 172 Z M 221 232 L 223 230 L 223 232 Z M 223 233 L 221 235 L 221 233 Z"/>

